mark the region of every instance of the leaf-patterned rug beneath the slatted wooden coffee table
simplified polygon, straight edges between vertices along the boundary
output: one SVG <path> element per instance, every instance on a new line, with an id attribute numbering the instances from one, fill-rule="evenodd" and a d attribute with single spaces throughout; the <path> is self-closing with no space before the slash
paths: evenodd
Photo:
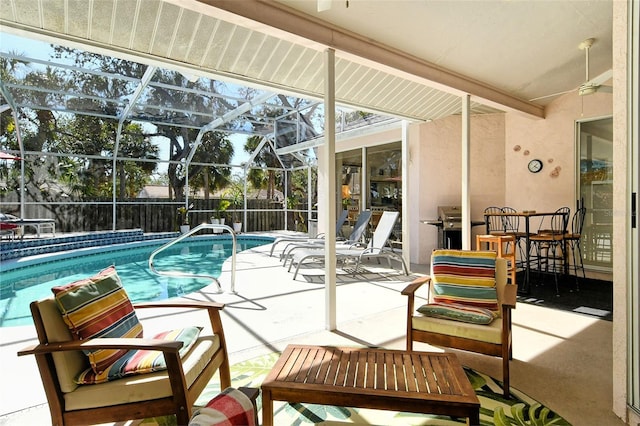
<path id="1" fill-rule="evenodd" d="M 259 388 L 279 354 L 253 358 L 231 366 L 231 382 L 234 387 L 251 386 Z M 511 399 L 502 396 L 501 383 L 487 375 L 465 367 L 480 400 L 480 423 L 482 425 L 569 425 L 569 423 L 550 409 L 542 406 L 529 396 L 511 388 Z M 220 393 L 217 376 L 204 390 L 196 405 L 205 405 Z M 261 399 L 258 398 L 258 417 L 262 422 Z M 316 404 L 288 404 L 274 401 L 275 425 L 460 425 L 466 419 L 453 419 L 448 416 L 428 414 L 399 413 L 393 411 L 362 408 L 334 407 Z M 147 419 L 144 425 L 175 425 L 175 417 Z"/>

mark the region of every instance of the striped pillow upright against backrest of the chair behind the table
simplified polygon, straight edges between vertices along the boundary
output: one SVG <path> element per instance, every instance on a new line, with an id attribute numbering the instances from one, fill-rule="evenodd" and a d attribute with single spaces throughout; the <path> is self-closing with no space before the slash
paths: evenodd
<path id="1" fill-rule="evenodd" d="M 494 251 L 434 250 L 431 256 L 433 301 L 499 313 Z"/>

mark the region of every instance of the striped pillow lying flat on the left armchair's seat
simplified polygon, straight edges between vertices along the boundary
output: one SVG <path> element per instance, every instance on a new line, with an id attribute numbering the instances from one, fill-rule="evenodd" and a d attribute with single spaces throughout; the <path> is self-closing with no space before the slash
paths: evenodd
<path id="1" fill-rule="evenodd" d="M 200 327 L 185 327 L 177 330 L 165 331 L 153 336 L 153 339 L 171 340 L 182 342 L 180 358 L 182 358 L 193 344 L 198 340 Z M 92 368 L 87 368 L 76 378 L 79 385 L 92 385 L 109 382 L 135 374 L 152 373 L 166 370 L 167 364 L 161 351 L 137 350 L 129 351 L 125 356 L 111 364 L 106 370 L 96 374 Z"/>

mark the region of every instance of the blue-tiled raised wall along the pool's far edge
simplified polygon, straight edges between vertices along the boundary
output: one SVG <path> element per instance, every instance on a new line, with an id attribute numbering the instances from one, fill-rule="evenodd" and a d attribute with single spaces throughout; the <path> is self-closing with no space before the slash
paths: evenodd
<path id="1" fill-rule="evenodd" d="M 175 238 L 178 232 L 145 234 L 142 229 L 121 231 L 98 231 L 64 237 L 38 238 L 25 240 L 3 240 L 0 244 L 0 262 L 45 253 L 77 250 L 88 247 L 124 244 L 136 241 Z"/>

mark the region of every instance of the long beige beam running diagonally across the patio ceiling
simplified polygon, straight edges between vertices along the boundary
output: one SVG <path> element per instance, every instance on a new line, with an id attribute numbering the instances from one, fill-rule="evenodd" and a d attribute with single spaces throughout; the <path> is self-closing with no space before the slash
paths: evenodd
<path id="1" fill-rule="evenodd" d="M 175 0 L 174 0 L 175 1 Z M 223 13 L 222 18 L 276 37 L 286 38 L 306 47 L 330 47 L 336 54 L 367 65 L 395 70 L 396 74 L 417 77 L 423 84 L 507 111 L 544 118 L 544 107 L 516 98 L 480 81 L 438 67 L 406 52 L 377 43 L 359 34 L 321 21 L 274 1 L 197 0 Z M 207 13 L 205 8 L 199 10 Z M 210 11 L 208 13 L 211 13 Z M 219 13 L 215 16 L 220 17 Z M 406 77 L 405 75 L 405 77 Z M 418 81 L 419 81 L 418 80 Z"/>

